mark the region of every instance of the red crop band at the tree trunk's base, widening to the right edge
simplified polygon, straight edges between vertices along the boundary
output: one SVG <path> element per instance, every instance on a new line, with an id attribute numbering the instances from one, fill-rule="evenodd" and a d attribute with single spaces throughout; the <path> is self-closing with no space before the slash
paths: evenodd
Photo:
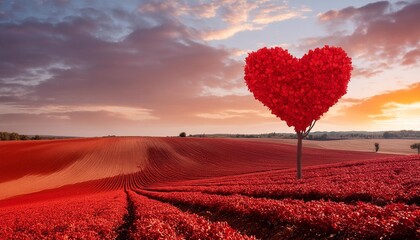
<path id="1" fill-rule="evenodd" d="M 296 181 L 294 173 L 277 172 L 237 176 L 203 185 L 153 188 L 159 191 L 200 191 L 221 195 L 305 200 L 366 201 L 419 204 L 420 160 L 417 157 L 346 164 L 309 170 Z M 185 184 L 185 183 L 184 183 Z"/>

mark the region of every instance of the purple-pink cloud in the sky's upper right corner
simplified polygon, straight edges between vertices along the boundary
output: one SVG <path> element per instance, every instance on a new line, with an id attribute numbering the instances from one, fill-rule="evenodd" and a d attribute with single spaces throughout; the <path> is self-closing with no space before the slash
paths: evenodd
<path id="1" fill-rule="evenodd" d="M 416 58 L 416 54 L 408 52 L 420 47 L 419 16 L 419 1 L 398 4 L 380 1 L 360 8 L 330 10 L 320 14 L 319 21 L 336 31 L 329 36 L 307 39 L 303 47 L 339 45 L 352 56 L 377 66 L 415 64 L 417 61 L 412 58 Z M 349 23 L 354 25 L 351 32 L 339 30 Z"/>

